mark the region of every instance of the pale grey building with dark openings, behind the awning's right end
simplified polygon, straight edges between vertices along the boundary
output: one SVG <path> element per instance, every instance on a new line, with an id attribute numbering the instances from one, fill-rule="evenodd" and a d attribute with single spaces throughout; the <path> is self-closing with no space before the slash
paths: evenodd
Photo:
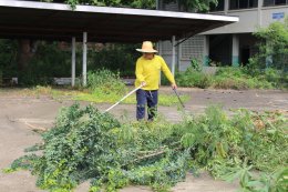
<path id="1" fill-rule="evenodd" d="M 165 4 L 158 0 L 158 9 L 184 11 L 177 2 Z M 284 21 L 288 17 L 288 0 L 218 0 L 209 13 L 236 16 L 239 22 L 206 31 L 176 43 L 176 63 L 184 71 L 193 59 L 204 67 L 209 65 L 245 65 L 257 52 L 257 39 L 253 32 L 268 27 L 275 21 Z M 161 54 L 171 63 L 172 43 L 158 43 Z"/>

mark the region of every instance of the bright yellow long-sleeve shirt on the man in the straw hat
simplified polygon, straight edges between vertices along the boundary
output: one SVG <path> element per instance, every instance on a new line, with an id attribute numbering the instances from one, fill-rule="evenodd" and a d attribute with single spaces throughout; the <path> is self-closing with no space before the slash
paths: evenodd
<path id="1" fill-rule="evenodd" d="M 144 57 L 137 59 L 136 62 L 136 81 L 135 87 L 140 87 L 145 81 L 146 85 L 143 90 L 157 90 L 160 88 L 160 71 L 163 71 L 171 83 L 175 83 L 175 79 L 171 73 L 166 62 L 161 55 L 154 55 L 152 60 Z"/>

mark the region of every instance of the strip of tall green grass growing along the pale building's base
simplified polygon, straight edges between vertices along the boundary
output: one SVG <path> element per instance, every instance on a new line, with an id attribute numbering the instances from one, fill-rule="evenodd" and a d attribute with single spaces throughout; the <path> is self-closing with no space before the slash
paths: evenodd
<path id="1" fill-rule="evenodd" d="M 275 69 L 254 71 L 247 68 L 218 68 L 213 74 L 205 74 L 189 67 L 176 74 L 179 87 L 216 89 L 288 89 L 288 73 Z M 166 83 L 166 81 L 162 81 Z"/>

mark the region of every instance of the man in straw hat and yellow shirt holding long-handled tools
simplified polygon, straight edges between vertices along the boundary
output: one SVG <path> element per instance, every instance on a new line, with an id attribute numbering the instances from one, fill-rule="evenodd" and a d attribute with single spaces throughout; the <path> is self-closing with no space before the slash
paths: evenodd
<path id="1" fill-rule="evenodd" d="M 160 72 L 163 71 L 172 84 L 172 89 L 176 89 L 176 82 L 171 73 L 166 62 L 161 55 L 156 55 L 156 50 L 153 49 L 151 41 L 144 41 L 142 49 L 136 49 L 143 55 L 136 62 L 136 81 L 135 87 L 143 85 L 136 91 L 137 120 L 145 118 L 145 105 L 147 104 L 148 120 L 153 121 L 157 113 Z"/>

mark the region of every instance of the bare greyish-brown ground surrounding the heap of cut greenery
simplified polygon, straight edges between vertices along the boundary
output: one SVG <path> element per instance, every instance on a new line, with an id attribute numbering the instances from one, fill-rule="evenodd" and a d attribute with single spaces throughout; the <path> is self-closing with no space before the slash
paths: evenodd
<path id="1" fill-rule="evenodd" d="M 230 109 L 246 108 L 255 111 L 280 110 L 288 112 L 288 92 L 264 90 L 199 90 L 178 89 L 181 94 L 189 94 L 191 100 L 185 103 L 186 111 L 202 113 L 209 104 L 219 103 L 227 112 Z M 169 88 L 162 88 L 161 92 L 173 93 Z M 0 170 L 9 166 L 17 158 L 24 154 L 23 150 L 37 142 L 41 142 L 34 128 L 51 128 L 61 107 L 71 105 L 73 101 L 55 101 L 49 97 L 18 95 L 18 90 L 0 89 Z M 85 105 L 88 102 L 81 102 Z M 110 104 L 96 104 L 100 110 Z M 171 121 L 179 121 L 181 114 L 176 107 L 160 107 L 160 113 Z M 133 104 L 120 104 L 111 111 L 116 117 L 134 118 Z M 81 184 L 75 191 L 88 191 L 89 183 Z M 206 173 L 195 178 L 187 175 L 185 182 L 178 183 L 173 191 L 179 192 L 232 192 L 237 184 L 215 181 Z M 35 178 L 27 171 L 6 174 L 0 172 L 0 192 L 38 192 Z M 145 186 L 128 186 L 122 192 L 148 192 Z"/>

